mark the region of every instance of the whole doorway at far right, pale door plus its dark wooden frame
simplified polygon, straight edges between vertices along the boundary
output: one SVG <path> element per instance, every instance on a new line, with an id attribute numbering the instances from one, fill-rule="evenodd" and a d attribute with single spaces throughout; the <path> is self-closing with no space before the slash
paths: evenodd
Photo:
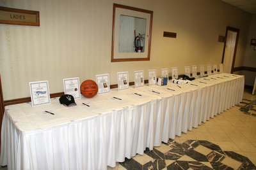
<path id="1" fill-rule="evenodd" d="M 224 43 L 223 55 L 221 60 L 224 73 L 233 73 L 239 31 L 239 29 L 233 27 L 227 27 L 226 29 L 226 41 Z"/>

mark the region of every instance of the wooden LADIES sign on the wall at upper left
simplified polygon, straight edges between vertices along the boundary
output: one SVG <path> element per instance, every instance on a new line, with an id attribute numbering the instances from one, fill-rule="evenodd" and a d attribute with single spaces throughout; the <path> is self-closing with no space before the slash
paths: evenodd
<path id="1" fill-rule="evenodd" d="M 40 26 L 39 11 L 0 6 L 0 24 Z"/>

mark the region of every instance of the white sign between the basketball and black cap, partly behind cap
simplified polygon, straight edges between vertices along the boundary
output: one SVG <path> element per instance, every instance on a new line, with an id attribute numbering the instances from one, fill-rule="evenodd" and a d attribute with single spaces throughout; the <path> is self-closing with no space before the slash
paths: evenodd
<path id="1" fill-rule="evenodd" d="M 81 99 L 79 78 L 63 79 L 64 93 L 70 94 L 74 99 Z"/>

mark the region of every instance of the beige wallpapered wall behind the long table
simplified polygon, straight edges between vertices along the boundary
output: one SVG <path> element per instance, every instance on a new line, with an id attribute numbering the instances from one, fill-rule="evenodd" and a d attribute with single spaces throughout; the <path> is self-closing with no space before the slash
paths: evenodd
<path id="1" fill-rule="evenodd" d="M 150 61 L 111 62 L 113 3 L 154 11 Z M 219 64 L 227 26 L 240 29 L 235 67 L 243 66 L 251 15 L 219 0 L 1 0 L 0 6 L 40 11 L 40 27 L 0 24 L 0 73 L 4 100 L 29 97 L 29 81 L 48 80 L 63 92 L 63 78 Z M 163 38 L 163 31 L 177 38 Z"/>

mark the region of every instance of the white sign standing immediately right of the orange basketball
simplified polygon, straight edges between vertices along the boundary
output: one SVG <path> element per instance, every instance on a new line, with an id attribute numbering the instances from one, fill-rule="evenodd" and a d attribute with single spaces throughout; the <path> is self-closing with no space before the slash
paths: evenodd
<path id="1" fill-rule="evenodd" d="M 96 75 L 96 81 L 98 85 L 98 94 L 109 93 L 109 74 L 98 74 Z"/>

